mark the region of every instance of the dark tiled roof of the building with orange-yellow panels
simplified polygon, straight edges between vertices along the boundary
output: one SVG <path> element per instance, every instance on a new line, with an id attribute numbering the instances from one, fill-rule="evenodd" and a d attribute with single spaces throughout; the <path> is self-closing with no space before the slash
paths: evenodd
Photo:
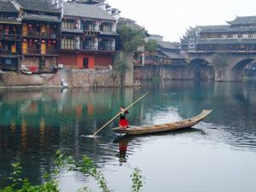
<path id="1" fill-rule="evenodd" d="M 37 10 L 50 13 L 61 13 L 61 10 L 55 9 L 48 0 L 15 0 L 22 9 Z"/>

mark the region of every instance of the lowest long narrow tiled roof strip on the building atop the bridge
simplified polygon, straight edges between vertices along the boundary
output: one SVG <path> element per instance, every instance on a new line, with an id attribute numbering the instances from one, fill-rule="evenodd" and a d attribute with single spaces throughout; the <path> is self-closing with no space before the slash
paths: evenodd
<path id="1" fill-rule="evenodd" d="M 256 44 L 256 38 L 207 38 L 198 40 L 197 44 Z"/>

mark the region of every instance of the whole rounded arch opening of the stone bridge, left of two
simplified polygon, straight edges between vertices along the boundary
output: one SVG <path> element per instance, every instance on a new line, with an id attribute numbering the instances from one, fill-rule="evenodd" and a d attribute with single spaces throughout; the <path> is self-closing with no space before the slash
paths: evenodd
<path id="1" fill-rule="evenodd" d="M 187 68 L 188 79 L 195 80 L 214 80 L 215 79 L 215 69 L 212 67 L 210 61 L 205 59 L 196 58 L 189 61 Z"/>

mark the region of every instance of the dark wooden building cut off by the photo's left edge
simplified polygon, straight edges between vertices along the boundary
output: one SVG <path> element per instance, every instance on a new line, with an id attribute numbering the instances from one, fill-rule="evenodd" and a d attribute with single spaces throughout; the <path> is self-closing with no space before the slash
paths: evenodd
<path id="1" fill-rule="evenodd" d="M 0 1 L 0 69 L 20 69 L 20 21 L 18 10 L 9 1 Z"/>

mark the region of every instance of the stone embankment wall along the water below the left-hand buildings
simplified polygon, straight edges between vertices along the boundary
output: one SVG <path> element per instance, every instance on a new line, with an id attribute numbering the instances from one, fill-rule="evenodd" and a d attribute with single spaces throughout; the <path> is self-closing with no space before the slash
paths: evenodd
<path id="1" fill-rule="evenodd" d="M 125 86 L 133 86 L 133 77 L 128 74 Z M 0 87 L 116 87 L 119 78 L 112 70 L 67 69 L 57 73 L 24 74 L 0 73 Z"/>

